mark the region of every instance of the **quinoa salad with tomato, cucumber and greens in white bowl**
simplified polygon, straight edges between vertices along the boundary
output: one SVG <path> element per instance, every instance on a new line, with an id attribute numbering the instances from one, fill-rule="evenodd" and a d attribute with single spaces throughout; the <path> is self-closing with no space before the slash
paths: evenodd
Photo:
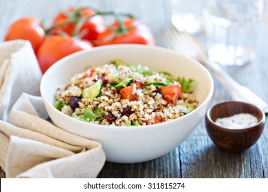
<path id="1" fill-rule="evenodd" d="M 71 77 L 69 84 L 57 88 L 54 106 L 65 115 L 99 125 L 152 125 L 197 107 L 192 84 L 192 79 L 115 59 Z"/>

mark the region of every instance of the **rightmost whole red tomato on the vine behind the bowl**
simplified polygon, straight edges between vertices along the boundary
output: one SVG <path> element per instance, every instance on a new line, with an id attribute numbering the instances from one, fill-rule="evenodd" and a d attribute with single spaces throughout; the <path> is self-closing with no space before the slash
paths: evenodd
<path id="1" fill-rule="evenodd" d="M 126 34 L 120 34 L 117 32 L 118 23 L 113 23 L 110 27 L 107 27 L 105 32 L 100 34 L 97 38 L 98 45 L 110 45 L 110 44 L 144 44 L 155 45 L 155 39 L 151 34 L 148 27 L 135 19 L 124 19 L 124 27 L 126 27 Z M 117 29 L 117 30 L 116 30 Z"/>

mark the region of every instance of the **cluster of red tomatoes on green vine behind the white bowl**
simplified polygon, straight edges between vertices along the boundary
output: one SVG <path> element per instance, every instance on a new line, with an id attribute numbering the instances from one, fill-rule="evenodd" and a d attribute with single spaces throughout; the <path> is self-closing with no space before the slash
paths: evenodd
<path id="1" fill-rule="evenodd" d="M 113 15 L 116 21 L 106 27 L 102 15 Z M 119 16 L 127 18 L 121 20 Z M 4 40 L 29 40 L 43 73 L 61 58 L 76 51 L 91 49 L 93 45 L 155 45 L 150 29 L 129 13 L 69 8 L 58 13 L 52 23 L 52 26 L 44 29 L 39 19 L 19 19 L 10 25 Z"/>

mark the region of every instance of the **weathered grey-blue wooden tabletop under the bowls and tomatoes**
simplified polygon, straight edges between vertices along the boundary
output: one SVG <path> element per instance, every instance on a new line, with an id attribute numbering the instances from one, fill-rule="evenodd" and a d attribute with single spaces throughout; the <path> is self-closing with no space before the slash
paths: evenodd
<path id="1" fill-rule="evenodd" d="M 132 12 L 150 27 L 159 46 L 164 46 L 161 31 L 170 25 L 170 0 L 0 0 L 0 40 L 5 30 L 21 16 L 51 19 L 70 6 L 85 5 L 102 10 Z M 265 22 L 268 23 L 268 22 Z M 268 25 L 267 25 L 268 27 Z M 234 80 L 248 86 L 268 102 L 268 30 L 264 27 L 258 42 L 257 57 L 244 67 L 225 67 Z M 214 80 L 212 104 L 229 99 Z M 144 163 L 105 163 L 99 178 L 268 178 L 268 125 L 258 142 L 244 152 L 226 152 L 216 147 L 205 130 L 204 119 L 188 139 L 172 152 Z M 0 171 L 0 178 L 5 173 Z"/>

